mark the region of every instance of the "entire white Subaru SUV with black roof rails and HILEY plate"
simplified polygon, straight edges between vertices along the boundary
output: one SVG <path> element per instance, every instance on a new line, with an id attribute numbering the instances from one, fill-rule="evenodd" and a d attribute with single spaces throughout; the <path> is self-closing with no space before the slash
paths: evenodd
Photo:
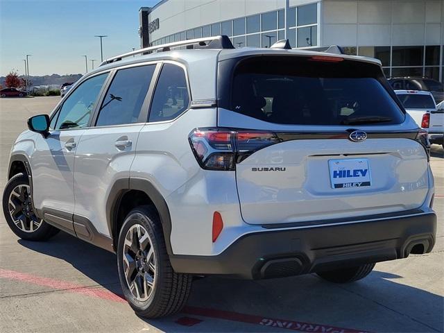
<path id="1" fill-rule="evenodd" d="M 226 36 L 154 46 L 105 61 L 28 127 L 10 228 L 117 253 L 141 316 L 178 311 L 194 275 L 352 282 L 435 243 L 427 134 L 378 60 Z"/>

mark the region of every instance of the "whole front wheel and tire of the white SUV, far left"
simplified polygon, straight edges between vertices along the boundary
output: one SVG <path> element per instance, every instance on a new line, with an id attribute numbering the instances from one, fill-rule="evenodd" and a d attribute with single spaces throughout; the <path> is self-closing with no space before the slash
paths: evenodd
<path id="1" fill-rule="evenodd" d="M 9 228 L 21 239 L 46 241 L 60 230 L 35 216 L 28 176 L 17 173 L 3 191 L 3 214 Z"/>

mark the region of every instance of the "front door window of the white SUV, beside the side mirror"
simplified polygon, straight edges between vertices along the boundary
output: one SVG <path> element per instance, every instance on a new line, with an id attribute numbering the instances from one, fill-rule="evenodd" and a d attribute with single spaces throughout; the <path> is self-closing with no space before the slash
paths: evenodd
<path id="1" fill-rule="evenodd" d="M 56 125 L 53 125 L 53 129 L 65 130 L 67 128 L 86 127 L 89 117 L 91 117 L 96 106 L 99 92 L 107 77 L 108 73 L 104 73 L 81 83 L 63 103 L 62 108 L 60 108 L 58 112 Z M 53 121 L 51 121 L 51 123 L 53 123 Z"/>

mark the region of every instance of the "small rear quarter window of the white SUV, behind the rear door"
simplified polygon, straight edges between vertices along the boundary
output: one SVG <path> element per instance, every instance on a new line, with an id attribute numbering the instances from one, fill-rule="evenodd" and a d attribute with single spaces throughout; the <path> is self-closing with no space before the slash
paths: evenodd
<path id="1" fill-rule="evenodd" d="M 187 110 L 189 94 L 185 71 L 176 65 L 164 64 L 155 87 L 149 120 L 167 121 Z"/>

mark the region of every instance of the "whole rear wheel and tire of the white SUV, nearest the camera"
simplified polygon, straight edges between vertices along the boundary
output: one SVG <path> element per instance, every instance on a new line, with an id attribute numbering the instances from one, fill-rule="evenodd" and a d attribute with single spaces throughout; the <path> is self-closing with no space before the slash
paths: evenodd
<path id="1" fill-rule="evenodd" d="M 126 216 L 117 245 L 117 268 L 123 295 L 139 316 L 168 316 L 187 302 L 192 276 L 173 271 L 152 206 L 137 207 Z"/>

